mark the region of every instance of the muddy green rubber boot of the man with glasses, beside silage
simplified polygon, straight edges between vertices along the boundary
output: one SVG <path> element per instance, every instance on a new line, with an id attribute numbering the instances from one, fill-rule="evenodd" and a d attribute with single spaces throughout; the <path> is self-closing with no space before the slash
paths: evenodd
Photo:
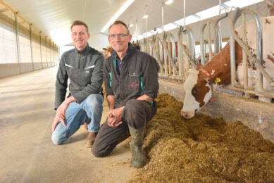
<path id="1" fill-rule="evenodd" d="M 133 168 L 142 168 L 147 163 L 142 149 L 145 126 L 140 129 L 134 129 L 128 125 L 128 128 L 132 137 L 132 141 L 130 141 L 131 166 Z"/>

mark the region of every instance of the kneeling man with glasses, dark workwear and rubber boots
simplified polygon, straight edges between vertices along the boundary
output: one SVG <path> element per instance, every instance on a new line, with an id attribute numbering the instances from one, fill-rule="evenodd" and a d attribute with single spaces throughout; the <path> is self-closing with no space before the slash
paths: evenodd
<path id="1" fill-rule="evenodd" d="M 146 163 L 142 149 L 145 125 L 156 114 L 158 63 L 132 46 L 132 35 L 122 21 L 113 23 L 108 33 L 108 42 L 113 48 L 113 56 L 104 63 L 109 112 L 94 141 L 92 153 L 96 157 L 108 156 L 117 144 L 131 135 L 131 165 L 142 168 Z"/>

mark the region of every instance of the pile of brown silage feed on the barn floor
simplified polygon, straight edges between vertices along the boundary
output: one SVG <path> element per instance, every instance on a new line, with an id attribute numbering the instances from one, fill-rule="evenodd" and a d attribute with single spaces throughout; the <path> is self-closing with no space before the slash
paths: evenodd
<path id="1" fill-rule="evenodd" d="M 182 119 L 182 103 L 159 94 L 147 124 L 148 163 L 131 182 L 274 182 L 274 145 L 241 122 L 195 115 Z"/>

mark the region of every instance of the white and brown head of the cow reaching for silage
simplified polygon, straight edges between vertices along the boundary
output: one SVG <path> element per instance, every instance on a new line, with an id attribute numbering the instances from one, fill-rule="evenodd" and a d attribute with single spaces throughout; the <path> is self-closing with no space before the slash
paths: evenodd
<path id="1" fill-rule="evenodd" d="M 213 96 L 214 84 L 208 72 L 200 65 L 197 70 L 189 69 L 188 77 L 184 83 L 185 99 L 181 115 L 185 119 L 194 117 L 196 111 L 199 111 Z"/>

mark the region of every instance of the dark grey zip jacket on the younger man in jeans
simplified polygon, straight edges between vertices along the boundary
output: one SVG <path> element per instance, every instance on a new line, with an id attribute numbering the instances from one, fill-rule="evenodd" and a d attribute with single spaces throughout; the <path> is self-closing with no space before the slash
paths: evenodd
<path id="1" fill-rule="evenodd" d="M 103 83 L 104 56 L 87 44 L 85 49 L 71 49 L 63 53 L 56 76 L 55 106 L 65 100 L 68 78 L 69 91 L 77 103 L 90 94 L 100 94 Z"/>

